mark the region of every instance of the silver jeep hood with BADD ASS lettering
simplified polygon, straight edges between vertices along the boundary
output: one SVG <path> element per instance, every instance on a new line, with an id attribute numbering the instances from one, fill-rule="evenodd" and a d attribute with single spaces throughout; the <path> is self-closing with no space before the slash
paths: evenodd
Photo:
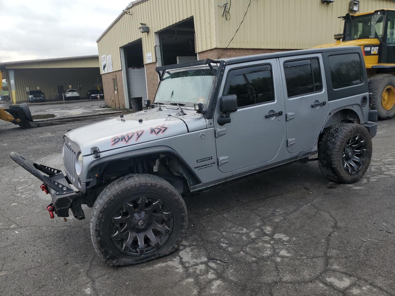
<path id="1" fill-rule="evenodd" d="M 65 141 L 69 139 L 83 155 L 89 155 L 95 146 L 103 152 L 207 128 L 205 118 L 196 111 L 183 109 L 182 115 L 179 110 L 161 108 L 162 111 L 156 107 L 74 129 L 64 135 Z"/>

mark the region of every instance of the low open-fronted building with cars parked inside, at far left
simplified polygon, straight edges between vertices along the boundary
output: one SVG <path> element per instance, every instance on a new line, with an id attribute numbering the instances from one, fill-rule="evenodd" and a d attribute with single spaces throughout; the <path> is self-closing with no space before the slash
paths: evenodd
<path id="1" fill-rule="evenodd" d="M 68 88 L 77 89 L 83 98 L 88 90 L 102 87 L 99 62 L 97 55 L 6 62 L 0 71 L 14 103 L 27 101 L 29 90 L 41 90 L 51 101 L 62 99 Z"/>

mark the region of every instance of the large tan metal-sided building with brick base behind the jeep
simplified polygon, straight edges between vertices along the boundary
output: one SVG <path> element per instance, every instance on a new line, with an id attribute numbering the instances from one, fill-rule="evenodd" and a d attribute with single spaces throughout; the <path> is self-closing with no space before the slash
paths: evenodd
<path id="1" fill-rule="evenodd" d="M 395 8 L 392 0 L 359 2 L 359 12 Z M 152 99 L 158 86 L 156 66 L 305 49 L 331 42 L 333 35 L 343 30 L 343 21 L 338 17 L 350 12 L 349 3 L 350 0 L 134 1 L 97 39 L 106 102 L 128 108 L 130 97 Z"/>

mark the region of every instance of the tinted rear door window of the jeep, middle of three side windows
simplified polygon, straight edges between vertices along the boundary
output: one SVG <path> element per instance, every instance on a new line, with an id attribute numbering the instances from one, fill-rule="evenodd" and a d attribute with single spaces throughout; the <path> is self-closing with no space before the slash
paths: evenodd
<path id="1" fill-rule="evenodd" d="M 322 79 L 318 59 L 284 63 L 288 97 L 311 94 L 322 90 Z"/>

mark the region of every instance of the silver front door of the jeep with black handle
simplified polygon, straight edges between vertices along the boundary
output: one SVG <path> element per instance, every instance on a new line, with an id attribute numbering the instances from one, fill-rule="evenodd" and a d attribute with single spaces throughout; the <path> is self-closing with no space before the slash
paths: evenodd
<path id="1" fill-rule="evenodd" d="M 230 113 L 230 123 L 220 126 L 217 119 L 223 114 L 217 104 L 214 130 L 219 169 L 232 172 L 263 166 L 276 156 L 284 138 L 278 60 L 227 66 L 220 97 L 228 94 L 237 96 L 238 110 Z"/>

